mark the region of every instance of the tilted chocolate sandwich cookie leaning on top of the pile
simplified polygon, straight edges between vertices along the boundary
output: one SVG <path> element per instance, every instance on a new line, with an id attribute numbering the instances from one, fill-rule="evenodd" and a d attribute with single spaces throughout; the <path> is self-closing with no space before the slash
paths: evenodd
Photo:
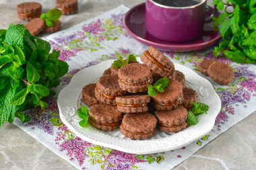
<path id="1" fill-rule="evenodd" d="M 153 46 L 150 46 L 148 50 L 143 52 L 140 58 L 142 62 L 152 69 L 152 71 L 155 71 L 162 77 L 168 77 L 172 72 L 172 69 L 174 69 L 174 64 L 167 58 L 167 56 Z"/>

